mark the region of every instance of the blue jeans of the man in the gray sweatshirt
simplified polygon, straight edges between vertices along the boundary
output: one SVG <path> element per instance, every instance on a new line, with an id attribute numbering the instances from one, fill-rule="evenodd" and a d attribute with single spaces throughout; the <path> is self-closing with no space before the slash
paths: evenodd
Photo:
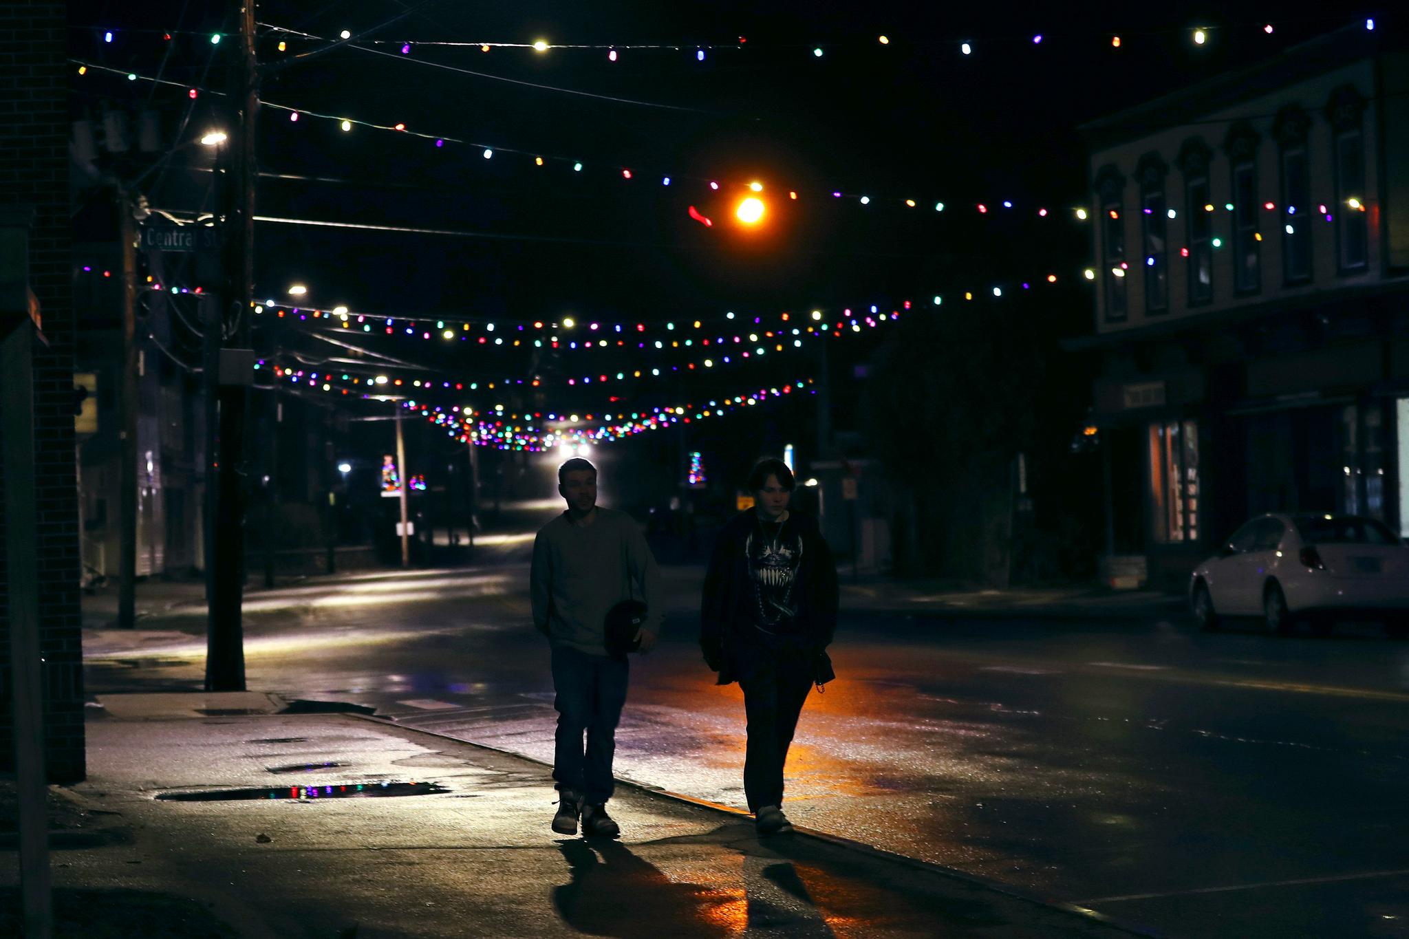
<path id="1" fill-rule="evenodd" d="M 558 788 L 582 793 L 589 805 L 612 798 L 616 725 L 626 705 L 631 666 L 626 657 L 552 648 L 552 707 L 558 708 L 552 779 Z M 586 733 L 586 748 L 582 738 Z"/>

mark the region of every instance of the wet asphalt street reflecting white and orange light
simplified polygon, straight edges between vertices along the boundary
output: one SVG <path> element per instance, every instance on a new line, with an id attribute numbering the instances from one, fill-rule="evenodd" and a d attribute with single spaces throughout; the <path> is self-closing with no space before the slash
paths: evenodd
<path id="1" fill-rule="evenodd" d="M 252 595 L 249 687 L 551 760 L 526 548 Z M 617 770 L 741 805 L 743 701 L 700 662 L 697 577 L 674 570 L 633 662 Z M 203 653 L 92 660 L 89 691 L 199 687 Z M 852 610 L 833 653 L 789 759 L 803 826 L 1169 936 L 1409 936 L 1409 643 Z"/>

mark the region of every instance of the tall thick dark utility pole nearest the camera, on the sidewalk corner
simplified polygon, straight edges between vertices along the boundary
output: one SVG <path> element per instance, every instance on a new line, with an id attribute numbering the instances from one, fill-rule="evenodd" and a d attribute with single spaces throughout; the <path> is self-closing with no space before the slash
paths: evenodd
<path id="1" fill-rule="evenodd" d="M 240 103 L 234 153 L 234 198 L 227 213 L 227 289 L 232 348 L 220 351 L 220 449 L 216 463 L 216 518 L 211 538 L 210 614 L 206 631 L 206 690 L 245 690 L 245 420 L 252 383 L 249 318 L 254 301 L 255 127 L 259 108 L 259 63 L 255 59 L 254 0 L 231 0 L 240 15 Z M 221 317 L 224 321 L 225 317 Z"/>

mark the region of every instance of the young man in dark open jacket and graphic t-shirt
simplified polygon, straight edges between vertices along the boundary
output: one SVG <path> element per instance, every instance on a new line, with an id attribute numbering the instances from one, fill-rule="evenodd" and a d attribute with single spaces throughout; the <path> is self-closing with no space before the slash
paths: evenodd
<path id="1" fill-rule="evenodd" d="M 719 684 L 744 690 L 744 795 L 759 835 L 785 835 L 783 764 L 812 691 L 834 679 L 837 566 L 817 519 L 788 508 L 793 476 L 768 459 L 748 476 L 754 507 L 724 524 L 709 570 L 700 650 Z"/>

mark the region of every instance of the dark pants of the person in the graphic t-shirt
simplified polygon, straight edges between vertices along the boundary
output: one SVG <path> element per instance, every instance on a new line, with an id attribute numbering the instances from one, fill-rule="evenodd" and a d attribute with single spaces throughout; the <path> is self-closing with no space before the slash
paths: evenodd
<path id="1" fill-rule="evenodd" d="M 757 634 L 740 643 L 734 660 L 748 717 L 744 795 L 757 812 L 783 801 L 783 764 L 812 691 L 813 653 L 802 641 Z"/>

